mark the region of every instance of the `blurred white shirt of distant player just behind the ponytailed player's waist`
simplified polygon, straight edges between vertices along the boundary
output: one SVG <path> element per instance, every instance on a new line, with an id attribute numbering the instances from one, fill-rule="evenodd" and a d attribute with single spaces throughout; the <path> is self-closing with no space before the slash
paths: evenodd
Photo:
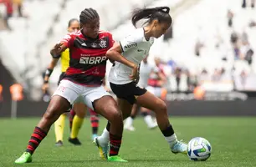
<path id="1" fill-rule="evenodd" d="M 140 80 L 139 80 L 138 86 L 140 86 L 142 88 L 147 87 L 147 81 L 148 81 L 148 78 L 150 77 L 150 74 L 151 74 L 152 70 L 153 70 L 153 66 L 151 66 L 151 64 L 141 62 L 141 65 L 140 65 Z"/>

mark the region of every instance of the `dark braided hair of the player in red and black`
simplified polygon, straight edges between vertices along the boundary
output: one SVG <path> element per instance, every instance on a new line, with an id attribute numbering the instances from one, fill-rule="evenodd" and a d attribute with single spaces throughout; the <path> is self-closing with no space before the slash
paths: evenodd
<path id="1" fill-rule="evenodd" d="M 93 8 L 85 8 L 79 16 L 80 23 L 82 24 L 90 23 L 95 19 L 100 19 L 100 16 Z"/>

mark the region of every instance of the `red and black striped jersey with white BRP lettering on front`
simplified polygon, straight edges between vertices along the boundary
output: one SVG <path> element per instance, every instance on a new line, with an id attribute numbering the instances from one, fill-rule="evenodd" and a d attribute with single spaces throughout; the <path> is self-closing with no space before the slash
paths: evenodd
<path id="1" fill-rule="evenodd" d="M 112 34 L 100 31 L 98 38 L 86 37 L 81 31 L 67 34 L 62 43 L 69 48 L 69 68 L 64 79 L 88 86 L 97 86 L 105 77 L 105 53 L 114 40 Z"/>

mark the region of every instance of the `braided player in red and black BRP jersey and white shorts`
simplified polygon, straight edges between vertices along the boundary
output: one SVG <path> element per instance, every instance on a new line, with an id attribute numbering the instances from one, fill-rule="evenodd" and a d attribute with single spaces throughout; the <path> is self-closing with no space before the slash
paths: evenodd
<path id="1" fill-rule="evenodd" d="M 111 33 L 99 31 L 100 17 L 92 8 L 80 13 L 81 30 L 66 35 L 51 49 L 53 56 L 69 48 L 69 68 L 59 83 L 43 118 L 35 127 L 28 147 L 15 163 L 32 161 L 32 154 L 44 139 L 52 124 L 70 108 L 82 102 L 110 121 L 109 161 L 126 162 L 118 156 L 123 133 L 123 118 L 118 105 L 102 86 L 105 77 L 106 52 L 113 46 Z"/>

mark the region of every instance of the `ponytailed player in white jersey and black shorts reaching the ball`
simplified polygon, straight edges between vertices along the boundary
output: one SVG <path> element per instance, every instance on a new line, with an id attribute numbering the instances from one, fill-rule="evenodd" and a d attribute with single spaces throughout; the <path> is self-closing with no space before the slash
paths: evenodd
<path id="1" fill-rule="evenodd" d="M 115 65 L 110 69 L 109 80 L 110 87 L 118 98 L 123 119 L 130 116 L 132 105 L 135 103 L 154 111 L 157 124 L 172 152 L 187 154 L 187 144 L 177 140 L 172 124 L 169 122 L 164 101 L 146 91 L 146 89 L 138 87 L 135 79 L 138 77 L 138 66 L 142 59 L 148 55 L 154 38 L 161 37 L 172 25 L 169 11 L 170 8 L 168 7 L 144 8 L 133 14 L 131 21 L 135 27 L 136 23 L 143 18 L 147 19 L 146 26 L 137 28 L 135 32 L 121 40 L 120 43 L 115 43 L 106 53 L 108 58 L 115 61 Z M 106 156 L 108 153 L 109 129 L 110 123 L 107 124 L 103 134 L 95 138 L 101 156 Z"/>

